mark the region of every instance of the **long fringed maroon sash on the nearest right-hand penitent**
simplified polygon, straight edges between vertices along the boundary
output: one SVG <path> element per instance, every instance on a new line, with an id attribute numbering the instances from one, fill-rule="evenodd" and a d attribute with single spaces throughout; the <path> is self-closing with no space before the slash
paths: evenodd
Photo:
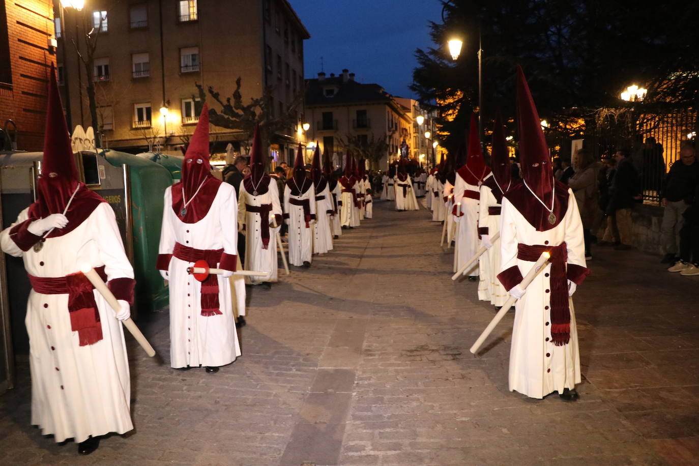
<path id="1" fill-rule="evenodd" d="M 551 258 L 551 277 L 549 277 L 551 294 L 551 338 L 557 347 L 570 342 L 570 307 L 568 306 L 568 277 L 565 263 L 568 261 L 568 249 L 565 242 L 558 246 L 517 245 L 517 259 L 535 262 L 543 252 L 549 252 Z"/>

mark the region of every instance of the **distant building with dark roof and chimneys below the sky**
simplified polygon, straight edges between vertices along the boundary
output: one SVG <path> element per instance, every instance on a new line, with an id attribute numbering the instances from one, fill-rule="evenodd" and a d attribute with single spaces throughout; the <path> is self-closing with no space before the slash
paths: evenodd
<path id="1" fill-rule="evenodd" d="M 336 165 L 341 163 L 348 138 L 366 144 L 384 139 L 385 154 L 373 168 L 385 170 L 398 156 L 403 140 L 411 144 L 412 108 L 406 106 L 410 99 L 396 99 L 380 85 L 356 82 L 354 76 L 343 70 L 339 75 L 318 73 L 318 78 L 306 80 L 308 139 L 317 141 L 322 153 L 334 154 Z"/>

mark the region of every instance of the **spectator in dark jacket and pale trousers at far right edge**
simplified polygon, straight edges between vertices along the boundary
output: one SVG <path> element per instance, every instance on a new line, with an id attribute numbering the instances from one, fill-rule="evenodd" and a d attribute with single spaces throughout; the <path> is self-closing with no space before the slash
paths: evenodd
<path id="1" fill-rule="evenodd" d="M 684 141 L 679 151 L 679 160 L 672 163 L 661 188 L 661 205 L 665 207 L 663 224 L 661 225 L 661 238 L 665 253 L 663 263 L 677 265 L 677 262 L 680 261 L 678 257 L 679 232 L 682 230 L 685 211 L 695 201 L 694 196 L 698 183 L 699 161 L 696 160 L 696 151 L 691 141 Z"/>

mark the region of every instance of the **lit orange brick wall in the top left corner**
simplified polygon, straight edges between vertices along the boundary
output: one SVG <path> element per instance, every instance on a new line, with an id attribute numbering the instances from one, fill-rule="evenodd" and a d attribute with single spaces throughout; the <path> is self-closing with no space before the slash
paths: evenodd
<path id="1" fill-rule="evenodd" d="M 0 0 L 4 3 L 7 41 L 0 57 L 9 63 L 12 82 L 0 83 L 0 125 L 7 119 L 17 124 L 17 148 L 42 150 L 47 84 L 56 57 L 48 43 L 54 36 L 51 0 Z M 1 50 L 1 49 L 0 49 Z M 4 53 L 3 53 L 4 54 Z"/>

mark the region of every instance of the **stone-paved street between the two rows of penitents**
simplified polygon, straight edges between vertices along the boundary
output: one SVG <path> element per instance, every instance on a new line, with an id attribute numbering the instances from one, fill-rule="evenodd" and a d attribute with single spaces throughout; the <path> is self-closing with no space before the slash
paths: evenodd
<path id="1" fill-rule="evenodd" d="M 424 210 L 375 203 L 308 270 L 250 292 L 243 356 L 158 366 L 129 337 L 136 430 L 88 457 L 29 425 L 29 375 L 0 397 L 0 464 L 682 465 L 699 457 L 699 280 L 596 249 L 575 295 L 581 400 L 507 391 L 512 313 L 452 282 Z M 168 360 L 166 312 L 140 319 Z"/>

